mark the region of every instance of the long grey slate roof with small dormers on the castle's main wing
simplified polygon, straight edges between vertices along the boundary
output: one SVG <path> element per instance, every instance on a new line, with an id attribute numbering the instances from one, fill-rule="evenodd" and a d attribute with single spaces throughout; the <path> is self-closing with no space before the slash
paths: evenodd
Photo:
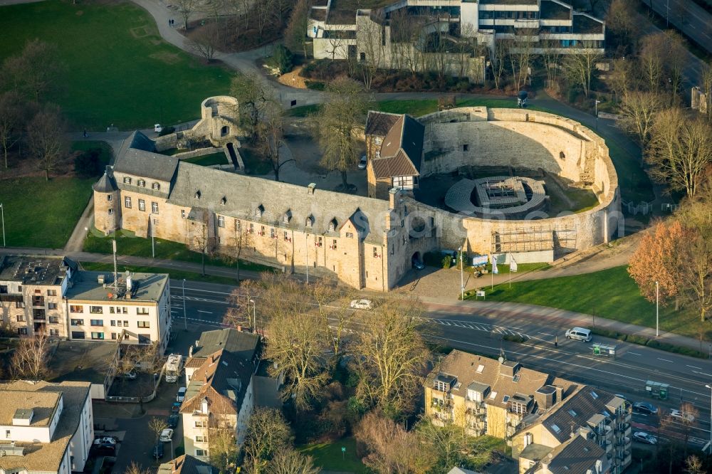
<path id="1" fill-rule="evenodd" d="M 200 191 L 199 197 L 197 191 Z M 225 198 L 225 204 L 221 204 Z M 213 209 L 216 214 L 263 222 L 268 226 L 306 228 L 308 216 L 313 216 L 310 233 L 329 234 L 333 218 L 340 228 L 352 219 L 367 242 L 382 243 L 384 216 L 388 201 L 363 196 L 315 189 L 313 194 L 304 186 L 282 183 L 273 179 L 247 177 L 219 169 L 181 162 L 168 196 L 169 204 L 191 209 Z M 255 210 L 262 206 L 261 218 Z M 288 223 L 283 216 L 290 211 Z"/>

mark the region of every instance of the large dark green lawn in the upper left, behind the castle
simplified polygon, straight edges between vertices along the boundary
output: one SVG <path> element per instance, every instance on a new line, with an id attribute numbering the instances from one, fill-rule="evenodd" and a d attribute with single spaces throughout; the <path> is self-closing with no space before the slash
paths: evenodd
<path id="1" fill-rule="evenodd" d="M 47 99 L 74 130 L 184 122 L 199 115 L 201 100 L 229 89 L 228 70 L 163 41 L 150 14 L 130 1 L 3 6 L 0 31 L 0 60 L 33 38 L 56 45 L 66 68 Z"/>

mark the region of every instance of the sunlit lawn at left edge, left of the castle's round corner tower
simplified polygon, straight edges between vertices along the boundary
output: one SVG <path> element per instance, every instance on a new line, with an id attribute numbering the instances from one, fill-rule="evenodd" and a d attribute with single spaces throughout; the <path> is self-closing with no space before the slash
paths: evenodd
<path id="1" fill-rule="evenodd" d="M 92 194 L 95 178 L 0 181 L 7 246 L 63 248 Z"/>

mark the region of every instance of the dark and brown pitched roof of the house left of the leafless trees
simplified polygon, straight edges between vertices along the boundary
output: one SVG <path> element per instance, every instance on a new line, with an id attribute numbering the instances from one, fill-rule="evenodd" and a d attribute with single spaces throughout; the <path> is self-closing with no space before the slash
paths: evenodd
<path id="1" fill-rule="evenodd" d="M 207 399 L 211 414 L 238 414 L 253 368 L 252 362 L 225 350 L 211 355 L 193 372 L 180 412 L 199 411 Z"/>

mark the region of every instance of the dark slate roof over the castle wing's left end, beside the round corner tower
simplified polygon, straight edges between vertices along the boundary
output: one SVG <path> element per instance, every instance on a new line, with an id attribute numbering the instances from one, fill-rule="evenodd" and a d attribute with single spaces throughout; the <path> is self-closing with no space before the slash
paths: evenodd
<path id="1" fill-rule="evenodd" d="M 176 157 L 156 153 L 156 146 L 152 139 L 137 130 L 121 144 L 114 164 L 114 172 L 171 181 L 178 162 L 179 159 Z M 145 188 L 136 189 L 141 189 L 142 192 L 150 191 Z"/>

